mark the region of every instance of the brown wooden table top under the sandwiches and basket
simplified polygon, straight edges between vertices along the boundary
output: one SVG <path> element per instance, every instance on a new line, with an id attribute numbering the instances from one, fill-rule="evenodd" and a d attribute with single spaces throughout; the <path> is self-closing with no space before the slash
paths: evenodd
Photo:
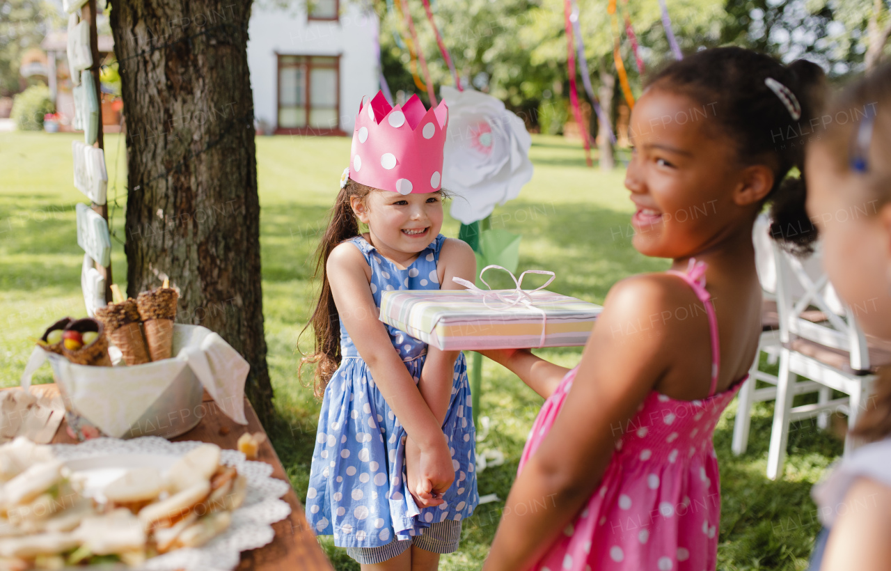
<path id="1" fill-rule="evenodd" d="M 43 393 L 46 396 L 57 395 L 59 389 L 54 384 L 36 385 L 31 387 L 34 393 Z M 236 442 L 238 437 L 247 432 L 263 432 L 266 431 L 260 425 L 257 419 L 257 413 L 248 402 L 244 399 L 244 415 L 248 419 L 248 426 L 244 427 L 236 424 L 232 419 L 227 417 L 219 410 L 217 404 L 208 396 L 207 391 L 204 393 L 205 415 L 201 419 L 198 426 L 186 432 L 182 436 L 171 438 L 173 441 L 182 440 L 200 440 L 201 442 L 209 442 L 225 449 L 237 449 Z M 66 431 L 67 424 L 62 420 L 61 427 L 53 438 L 53 444 L 76 444 L 77 441 L 71 438 Z M 269 439 L 260 446 L 257 461 L 264 461 L 273 467 L 273 477 L 277 477 L 288 482 L 288 476 L 279 461 L 278 455 L 273 450 Z M 325 557 L 322 548 L 315 539 L 313 530 L 307 524 L 307 517 L 304 515 L 303 506 L 297 499 L 297 494 L 289 488 L 288 494 L 282 499 L 290 504 L 290 516 L 282 519 L 282 521 L 273 524 L 275 530 L 275 539 L 265 547 L 261 547 L 253 551 L 243 551 L 241 553 L 241 564 L 238 569 L 243 571 L 273 571 L 282 569 L 282 571 L 296 571 L 297 569 L 306 571 L 325 570 L 331 571 L 331 563 Z"/>

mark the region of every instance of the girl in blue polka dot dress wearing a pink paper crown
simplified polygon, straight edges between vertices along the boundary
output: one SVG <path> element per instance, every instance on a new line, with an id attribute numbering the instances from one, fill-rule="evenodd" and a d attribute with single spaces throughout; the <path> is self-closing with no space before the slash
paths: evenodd
<path id="1" fill-rule="evenodd" d="M 365 97 L 318 250 L 315 353 L 301 361 L 323 396 L 307 518 L 363 569 L 436 569 L 478 503 L 464 355 L 378 320 L 386 290 L 475 278 L 470 246 L 439 233 L 447 123 L 445 103 Z"/>

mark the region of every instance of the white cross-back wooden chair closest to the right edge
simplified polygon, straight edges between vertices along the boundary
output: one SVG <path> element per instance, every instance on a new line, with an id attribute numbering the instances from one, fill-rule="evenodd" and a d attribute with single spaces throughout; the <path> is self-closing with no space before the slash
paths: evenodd
<path id="1" fill-rule="evenodd" d="M 805 269 L 802 260 L 773 245 L 776 266 L 776 300 L 780 317 L 780 371 L 777 375 L 767 477 L 781 477 L 789 442 L 789 424 L 817 416 L 825 427 L 830 412 L 847 414 L 853 428 L 867 402 L 876 366 L 891 363 L 891 354 L 871 346 L 857 325 L 854 312 L 843 305 L 828 277 Z M 819 260 L 818 251 L 813 256 Z M 813 260 L 810 260 L 813 263 Z M 800 292 L 800 293 L 799 293 Z M 823 320 L 813 318 L 815 307 Z M 859 309 L 858 309 L 859 310 Z M 806 392 L 797 382 L 801 375 L 820 386 L 818 402 L 792 406 L 793 397 Z M 844 397 L 830 400 L 830 389 Z M 845 453 L 856 443 L 846 437 Z"/>

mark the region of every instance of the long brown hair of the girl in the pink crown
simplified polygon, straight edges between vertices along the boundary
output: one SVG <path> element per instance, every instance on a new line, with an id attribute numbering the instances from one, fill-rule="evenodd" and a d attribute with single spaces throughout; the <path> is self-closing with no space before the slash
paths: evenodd
<path id="1" fill-rule="evenodd" d="M 303 365 L 315 364 L 313 387 L 315 396 L 320 398 L 324 395 L 331 375 L 337 371 L 340 365 L 340 317 L 337 306 L 334 305 L 334 296 L 331 294 L 331 283 L 328 281 L 328 271 L 325 265 L 328 264 L 331 250 L 340 242 L 359 235 L 359 220 L 356 218 L 349 200 L 354 196 L 365 200 L 369 192 L 373 190 L 372 187 L 356 183 L 352 179 L 347 180 L 347 185 L 340 189 L 337 200 L 331 207 L 328 227 L 325 229 L 322 241 L 319 242 L 318 249 L 315 250 L 313 278 L 321 280 L 322 287 L 319 290 L 319 300 L 315 304 L 313 316 L 298 336 L 298 351 L 299 339 L 310 326 L 313 328 L 315 348 L 310 355 L 303 355 L 301 352 L 303 356 L 300 359 L 297 374 L 299 379 Z"/>

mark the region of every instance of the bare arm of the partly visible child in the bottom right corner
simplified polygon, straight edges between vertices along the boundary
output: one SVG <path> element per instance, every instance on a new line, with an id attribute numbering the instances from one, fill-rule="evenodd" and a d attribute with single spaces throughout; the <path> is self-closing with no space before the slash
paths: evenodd
<path id="1" fill-rule="evenodd" d="M 844 511 L 842 510 L 844 506 Z M 879 571 L 891 561 L 891 488 L 858 478 L 845 495 L 832 526 L 822 571 Z"/>

